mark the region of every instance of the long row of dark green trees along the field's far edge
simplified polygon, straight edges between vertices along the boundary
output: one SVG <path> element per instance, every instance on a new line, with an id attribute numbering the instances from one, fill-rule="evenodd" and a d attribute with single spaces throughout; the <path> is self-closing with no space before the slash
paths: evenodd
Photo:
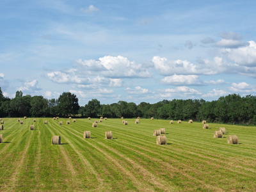
<path id="1" fill-rule="evenodd" d="M 17 91 L 15 98 L 4 97 L 0 88 L 0 116 L 90 116 L 97 118 L 159 118 L 171 120 L 189 120 L 220 122 L 231 124 L 256 125 L 256 96 L 230 94 L 218 100 L 173 99 L 162 100 L 155 104 L 126 102 L 120 100 L 113 104 L 100 104 L 97 99 L 79 106 L 76 95 L 63 92 L 58 99 L 45 99 L 42 96 L 22 95 Z"/>

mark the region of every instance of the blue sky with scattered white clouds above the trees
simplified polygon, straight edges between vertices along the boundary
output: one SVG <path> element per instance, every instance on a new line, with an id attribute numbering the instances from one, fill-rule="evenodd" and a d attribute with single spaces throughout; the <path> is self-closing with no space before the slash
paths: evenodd
<path id="1" fill-rule="evenodd" d="M 256 1 L 0 1 L 5 97 L 79 105 L 256 95 Z"/>

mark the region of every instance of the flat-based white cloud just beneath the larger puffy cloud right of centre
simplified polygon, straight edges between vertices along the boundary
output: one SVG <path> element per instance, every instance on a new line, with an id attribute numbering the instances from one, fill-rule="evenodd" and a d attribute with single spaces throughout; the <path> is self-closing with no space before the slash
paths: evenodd
<path id="1" fill-rule="evenodd" d="M 201 84 L 199 77 L 196 75 L 176 75 L 166 76 L 161 79 L 163 84 Z"/>

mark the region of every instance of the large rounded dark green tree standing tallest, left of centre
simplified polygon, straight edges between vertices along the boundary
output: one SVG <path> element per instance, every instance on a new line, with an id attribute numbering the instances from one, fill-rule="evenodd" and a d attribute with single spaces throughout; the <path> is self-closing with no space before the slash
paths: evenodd
<path id="1" fill-rule="evenodd" d="M 76 95 L 70 92 L 63 92 L 57 100 L 58 111 L 63 116 L 76 115 L 79 110 Z"/>

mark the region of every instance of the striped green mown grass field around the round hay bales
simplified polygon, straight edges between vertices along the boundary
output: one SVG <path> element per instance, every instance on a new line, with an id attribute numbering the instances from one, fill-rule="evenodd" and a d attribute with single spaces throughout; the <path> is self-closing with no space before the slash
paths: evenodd
<path id="1" fill-rule="evenodd" d="M 0 191 L 256 191 L 256 127 L 169 120 L 3 118 Z M 44 124 L 44 120 L 48 124 Z M 62 121 L 63 125 L 59 125 Z M 29 125 L 35 125 L 30 131 Z M 213 138 L 225 127 L 224 138 Z M 154 129 L 165 128 L 167 145 Z M 83 132 L 91 131 L 91 139 Z M 112 131 L 113 140 L 105 139 Z M 237 135 L 238 145 L 227 144 Z M 52 145 L 52 135 L 62 145 Z"/>

